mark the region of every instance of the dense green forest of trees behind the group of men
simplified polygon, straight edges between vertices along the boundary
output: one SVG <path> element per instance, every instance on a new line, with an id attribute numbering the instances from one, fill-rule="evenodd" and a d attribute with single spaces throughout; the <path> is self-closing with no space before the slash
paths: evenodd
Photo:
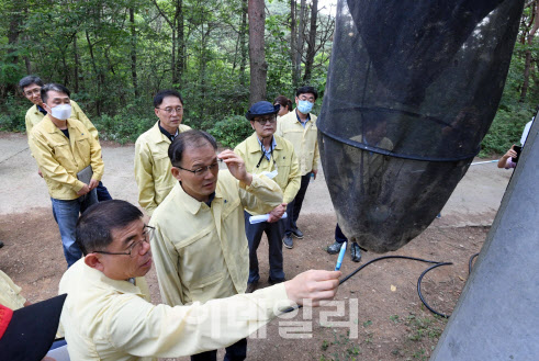
<path id="1" fill-rule="evenodd" d="M 526 4 L 483 156 L 517 142 L 539 104 L 537 2 Z M 293 99 L 302 84 L 324 94 L 335 26 L 329 3 L 0 0 L 0 129 L 24 132 L 31 104 L 16 84 L 32 74 L 67 86 L 104 139 L 134 142 L 155 122 L 154 94 L 175 88 L 183 122 L 232 146 L 250 133 L 243 117 L 249 103 Z"/>

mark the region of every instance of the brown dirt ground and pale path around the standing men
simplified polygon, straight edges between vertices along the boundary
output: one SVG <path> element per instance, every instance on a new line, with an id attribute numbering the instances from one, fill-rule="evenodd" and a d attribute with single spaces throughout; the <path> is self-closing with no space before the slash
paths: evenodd
<path id="1" fill-rule="evenodd" d="M 0 133 L 0 239 L 5 242 L 0 250 L 0 269 L 22 286 L 30 301 L 38 301 L 56 294 L 66 263 L 46 187 L 26 148 L 24 135 Z M 133 146 L 104 145 L 103 181 L 114 198 L 136 204 L 133 154 Z M 510 173 L 496 169 L 495 163 L 472 166 L 446 204 L 441 219 L 391 253 L 454 263 L 424 279 L 424 295 L 435 308 L 450 313 L 454 306 L 468 277 L 469 257 L 481 249 Z M 335 215 L 323 177 L 310 185 L 304 204 L 299 226 L 305 239 L 284 250 L 288 278 L 312 268 L 332 269 L 336 260 L 325 252 L 333 241 Z M 261 280 L 268 277 L 267 255 L 262 240 Z M 359 264 L 379 256 L 364 253 Z M 343 271 L 347 274 L 357 266 L 347 256 Z M 249 340 L 248 359 L 427 360 L 446 320 L 434 317 L 417 296 L 417 278 L 425 268 L 424 263 L 403 260 L 369 266 L 340 287 L 337 300 L 344 316 L 336 316 L 338 307 L 334 306 L 314 309 L 312 315 L 305 309 L 291 319 L 276 319 L 256 335 L 258 338 Z M 154 302 L 158 302 L 154 271 L 148 283 Z"/>

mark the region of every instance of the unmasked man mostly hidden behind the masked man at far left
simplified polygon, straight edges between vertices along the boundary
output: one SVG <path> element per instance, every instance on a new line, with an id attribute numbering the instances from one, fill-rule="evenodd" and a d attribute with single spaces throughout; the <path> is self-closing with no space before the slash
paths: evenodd
<path id="1" fill-rule="evenodd" d="M 45 115 L 47 115 L 47 111 L 43 108 L 43 101 L 41 98 L 41 89 L 43 88 L 43 80 L 36 76 L 27 76 L 22 78 L 19 81 L 19 88 L 23 92 L 24 97 L 30 100 L 34 105 L 32 105 L 27 112 L 25 117 L 26 125 L 26 135 L 29 136 L 29 145 L 30 145 L 30 133 L 32 133 L 32 128 L 37 125 Z M 76 119 L 80 121 L 86 128 L 90 132 L 90 134 L 99 142 L 99 134 L 96 126 L 93 126 L 92 122 L 86 116 L 85 112 L 80 109 L 79 104 L 75 100 L 71 100 L 71 119 Z M 41 170 L 37 170 L 37 173 L 43 177 Z M 96 189 L 98 193 L 98 201 L 110 201 L 112 200 L 111 194 L 106 187 L 100 181 L 98 188 Z"/>

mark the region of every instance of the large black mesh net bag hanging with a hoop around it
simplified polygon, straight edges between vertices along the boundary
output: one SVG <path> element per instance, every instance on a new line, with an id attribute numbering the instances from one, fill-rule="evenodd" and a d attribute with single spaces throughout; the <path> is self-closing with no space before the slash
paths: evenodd
<path id="1" fill-rule="evenodd" d="M 395 250 L 425 229 L 496 113 L 521 0 L 339 0 L 322 114 L 338 222 Z"/>

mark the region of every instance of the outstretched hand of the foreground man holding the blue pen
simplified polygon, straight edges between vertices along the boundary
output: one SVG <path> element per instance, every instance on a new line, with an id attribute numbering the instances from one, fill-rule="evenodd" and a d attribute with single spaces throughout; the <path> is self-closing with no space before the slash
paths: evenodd
<path id="1" fill-rule="evenodd" d="M 284 282 L 287 295 L 293 302 L 302 305 L 304 301 L 312 301 L 318 306 L 321 301 L 333 300 L 337 294 L 340 271 L 310 270 L 297 274 Z"/>

